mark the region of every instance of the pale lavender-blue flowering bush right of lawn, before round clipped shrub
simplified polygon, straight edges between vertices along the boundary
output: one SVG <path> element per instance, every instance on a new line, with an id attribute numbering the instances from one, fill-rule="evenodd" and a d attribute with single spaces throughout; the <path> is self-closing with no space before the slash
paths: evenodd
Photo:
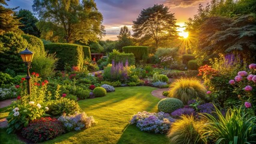
<path id="1" fill-rule="evenodd" d="M 174 119 L 168 113 L 138 112 L 132 116 L 130 124 L 136 124 L 141 131 L 166 134 Z"/>

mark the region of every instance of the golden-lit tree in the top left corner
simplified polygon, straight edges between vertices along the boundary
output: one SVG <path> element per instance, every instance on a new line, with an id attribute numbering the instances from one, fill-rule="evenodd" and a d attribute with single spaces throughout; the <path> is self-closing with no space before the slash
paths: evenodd
<path id="1" fill-rule="evenodd" d="M 13 16 L 13 10 L 16 8 L 5 8 L 4 5 L 7 5 L 5 0 L 0 0 L 0 35 L 4 34 L 4 32 L 19 31 L 19 20 Z"/>

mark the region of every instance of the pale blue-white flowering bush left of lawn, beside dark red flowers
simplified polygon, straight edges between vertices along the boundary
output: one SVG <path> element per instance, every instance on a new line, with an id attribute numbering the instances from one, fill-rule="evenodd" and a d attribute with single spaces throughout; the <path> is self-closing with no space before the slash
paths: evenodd
<path id="1" fill-rule="evenodd" d="M 62 122 L 67 131 L 81 130 L 81 128 L 90 128 L 96 124 L 93 116 L 87 116 L 85 112 L 76 113 L 75 115 L 66 116 L 66 114 L 58 118 Z"/>

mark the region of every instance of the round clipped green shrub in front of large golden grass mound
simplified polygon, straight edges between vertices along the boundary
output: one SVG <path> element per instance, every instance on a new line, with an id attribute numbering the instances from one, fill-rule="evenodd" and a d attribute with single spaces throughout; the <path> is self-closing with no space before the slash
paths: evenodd
<path id="1" fill-rule="evenodd" d="M 163 98 L 157 103 L 158 110 L 165 113 L 171 113 L 181 107 L 183 107 L 183 103 L 177 98 Z"/>

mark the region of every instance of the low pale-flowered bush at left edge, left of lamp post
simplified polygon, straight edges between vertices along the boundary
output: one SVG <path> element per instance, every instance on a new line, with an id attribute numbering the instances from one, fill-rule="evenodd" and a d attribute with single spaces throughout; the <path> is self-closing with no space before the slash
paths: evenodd
<path id="1" fill-rule="evenodd" d="M 10 88 L 0 88 L 0 101 L 17 97 L 17 88 L 11 86 Z"/>

